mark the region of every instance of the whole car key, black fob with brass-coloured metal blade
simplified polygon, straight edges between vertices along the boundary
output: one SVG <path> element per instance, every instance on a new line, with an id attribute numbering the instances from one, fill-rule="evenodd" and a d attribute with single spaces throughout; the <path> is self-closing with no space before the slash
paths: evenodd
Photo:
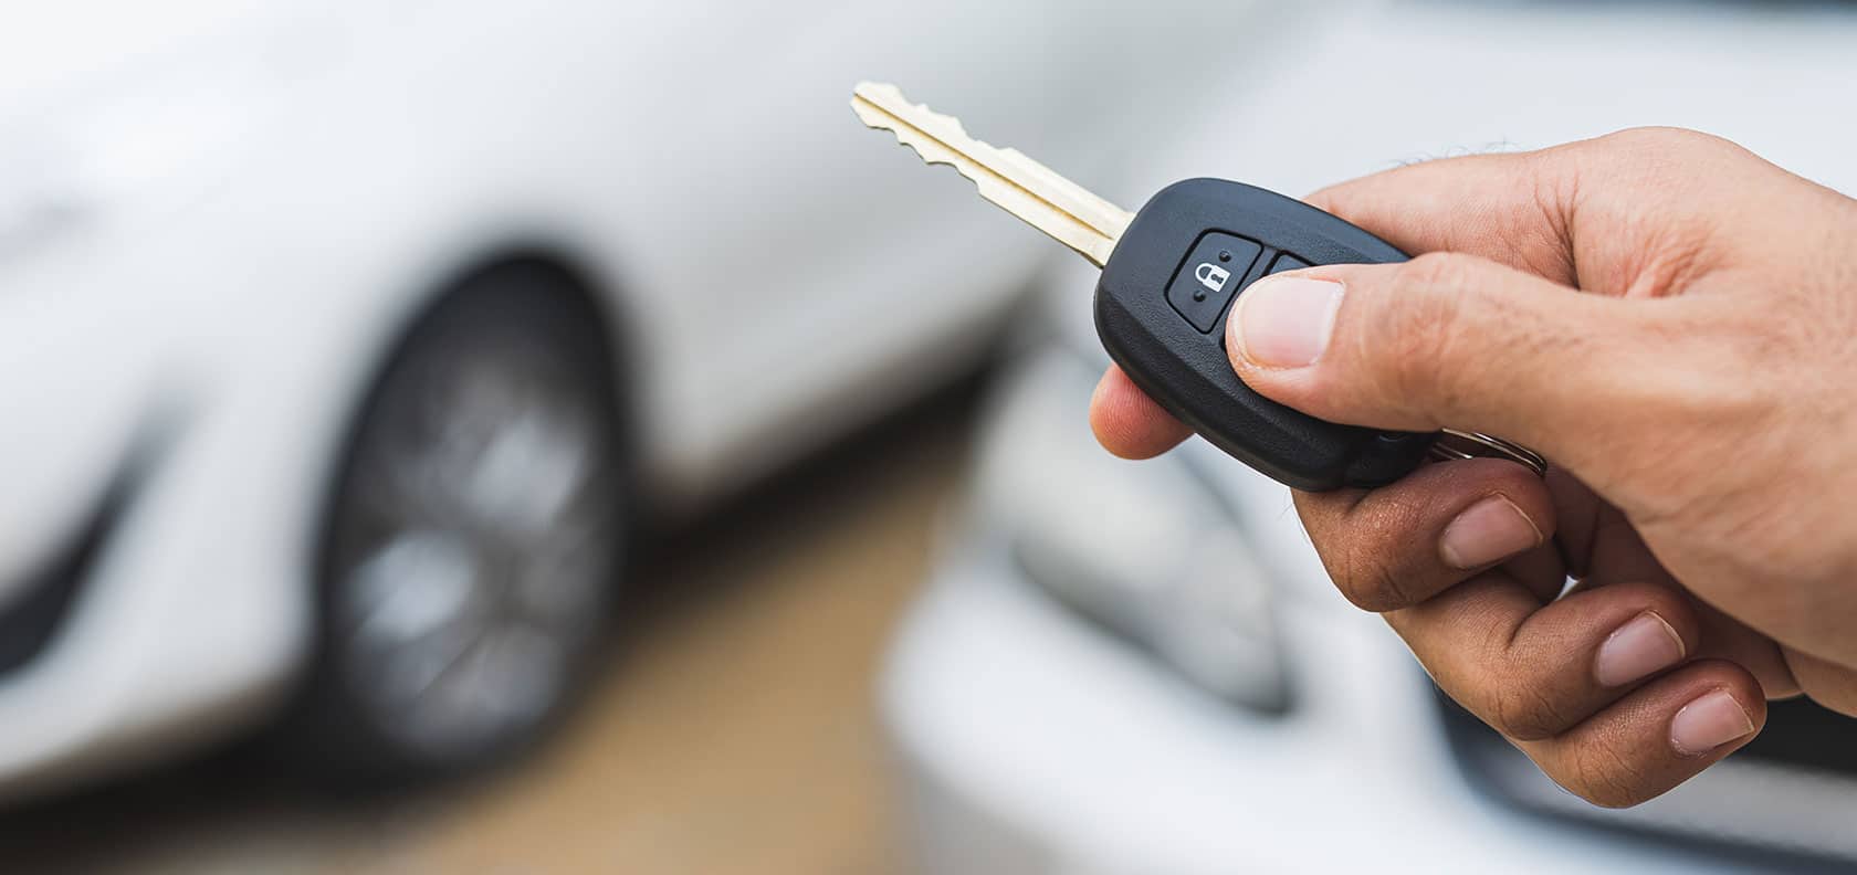
<path id="1" fill-rule="evenodd" d="M 1426 457 L 1500 457 L 1545 474 L 1534 451 L 1473 431 L 1378 431 L 1318 420 L 1252 392 L 1231 370 L 1224 320 L 1259 277 L 1408 258 L 1367 230 L 1302 201 L 1216 178 L 1175 182 L 1129 214 L 1016 149 L 969 137 L 960 121 L 910 104 L 895 85 L 858 84 L 851 108 L 1101 268 L 1096 333 L 1103 347 L 1161 407 L 1252 468 L 1305 490 L 1391 483 Z"/>

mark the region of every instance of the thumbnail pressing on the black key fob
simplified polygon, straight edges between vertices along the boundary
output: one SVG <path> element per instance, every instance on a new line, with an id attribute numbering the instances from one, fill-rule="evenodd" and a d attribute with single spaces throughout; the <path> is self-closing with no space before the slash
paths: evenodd
<path id="1" fill-rule="evenodd" d="M 1265 368 L 1305 368 L 1328 349 L 1341 310 L 1341 282 L 1307 277 L 1265 277 L 1239 295 L 1226 338 L 1239 355 Z"/>

